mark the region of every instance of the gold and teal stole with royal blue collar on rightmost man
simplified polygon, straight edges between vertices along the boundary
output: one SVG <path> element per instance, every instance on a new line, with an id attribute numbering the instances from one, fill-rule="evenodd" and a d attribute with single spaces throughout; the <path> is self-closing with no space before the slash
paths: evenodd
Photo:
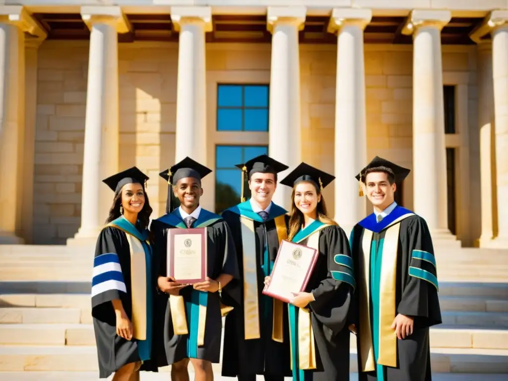
<path id="1" fill-rule="evenodd" d="M 379 223 L 374 213 L 358 223 L 363 230 L 357 241 L 358 247 L 352 247 L 352 250 L 359 252 L 362 282 L 359 312 L 363 328 L 359 332 L 358 355 L 363 372 L 377 368 L 378 374 L 383 375 L 383 366 L 397 367 L 397 336 L 391 325 L 397 307 L 395 289 L 400 222 L 413 215 L 415 213 L 410 210 L 397 206 Z M 384 237 L 373 240 L 374 233 L 382 233 Z M 353 244 L 353 233 L 350 243 Z M 370 310 L 370 300 L 373 311 Z"/>

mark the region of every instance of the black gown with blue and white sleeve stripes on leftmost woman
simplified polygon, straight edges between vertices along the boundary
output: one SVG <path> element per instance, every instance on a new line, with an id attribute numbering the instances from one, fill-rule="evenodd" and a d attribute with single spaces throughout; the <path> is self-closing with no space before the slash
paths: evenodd
<path id="1" fill-rule="evenodd" d="M 131 278 L 131 248 L 128 240 L 137 239 L 144 251 L 145 283 L 133 284 Z M 133 238 L 134 237 L 134 238 Z M 152 266 L 152 249 L 148 243 L 148 231 L 140 232 L 122 216 L 105 227 L 97 240 L 93 260 L 92 318 L 97 343 L 99 376 L 107 378 L 122 366 L 143 361 L 141 370 L 157 371 L 153 355 L 153 304 L 155 273 Z M 143 256 L 143 253 L 140 254 Z M 116 315 L 112 300 L 120 299 L 125 313 L 133 323 L 132 290 L 145 289 L 146 339 L 125 340 L 116 334 Z M 142 306 L 143 307 L 143 306 Z"/>

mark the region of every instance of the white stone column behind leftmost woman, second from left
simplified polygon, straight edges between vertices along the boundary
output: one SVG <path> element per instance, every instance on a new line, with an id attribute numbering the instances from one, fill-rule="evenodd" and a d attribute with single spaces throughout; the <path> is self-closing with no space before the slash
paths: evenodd
<path id="1" fill-rule="evenodd" d="M 118 33 L 130 29 L 120 7 L 81 7 L 90 29 L 81 227 L 68 244 L 91 243 L 113 200 L 102 180 L 118 172 Z"/>

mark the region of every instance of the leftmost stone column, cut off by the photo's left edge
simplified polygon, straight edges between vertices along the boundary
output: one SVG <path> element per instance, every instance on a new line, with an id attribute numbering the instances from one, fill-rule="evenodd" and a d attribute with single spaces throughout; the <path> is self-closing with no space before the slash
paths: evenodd
<path id="1" fill-rule="evenodd" d="M 0 243 L 20 244 L 23 205 L 24 34 L 45 33 L 21 6 L 0 6 Z M 33 152 L 28 152 L 32 154 Z"/>

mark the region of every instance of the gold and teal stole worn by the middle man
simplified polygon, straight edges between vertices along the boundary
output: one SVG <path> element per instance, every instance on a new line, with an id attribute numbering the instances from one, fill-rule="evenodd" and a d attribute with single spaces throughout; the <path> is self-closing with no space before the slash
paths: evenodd
<path id="1" fill-rule="evenodd" d="M 256 255 L 256 233 L 254 222 L 265 224 L 270 220 L 274 220 L 275 229 L 277 230 L 277 238 L 280 245 L 282 240 L 288 238 L 288 230 L 285 224 L 285 214 L 287 210 L 272 203 L 268 218 L 263 220 L 261 216 L 252 210 L 250 200 L 238 204 L 227 209 L 240 216 L 241 234 L 242 234 L 242 252 L 243 252 L 243 319 L 244 319 L 244 338 L 259 339 L 261 338 L 260 316 L 259 316 L 259 300 L 258 300 L 258 261 Z M 264 264 L 262 266 L 265 276 L 270 275 L 273 269 L 273 261 L 270 261 L 268 251 L 268 237 L 266 237 L 264 247 Z M 284 341 L 283 325 L 282 325 L 282 306 L 280 300 L 263 296 L 266 303 L 265 311 L 269 316 L 270 309 L 272 313 L 272 340 L 277 342 Z M 271 305 L 270 305 L 271 304 Z M 271 307 L 271 308 L 270 308 Z"/>

